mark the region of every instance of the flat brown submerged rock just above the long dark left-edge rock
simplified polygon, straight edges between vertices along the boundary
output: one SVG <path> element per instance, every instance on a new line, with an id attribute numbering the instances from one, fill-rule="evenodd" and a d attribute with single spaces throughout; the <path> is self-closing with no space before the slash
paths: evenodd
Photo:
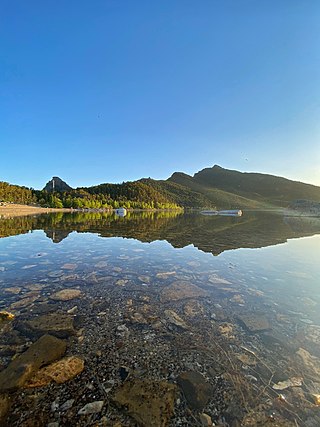
<path id="1" fill-rule="evenodd" d="M 73 316 L 63 313 L 50 313 L 24 322 L 26 329 L 34 335 L 50 333 L 58 338 L 74 335 Z"/>

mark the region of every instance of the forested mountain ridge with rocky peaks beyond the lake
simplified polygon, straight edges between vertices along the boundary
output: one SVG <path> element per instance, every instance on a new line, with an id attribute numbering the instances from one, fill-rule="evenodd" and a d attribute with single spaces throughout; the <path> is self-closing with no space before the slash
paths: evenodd
<path id="1" fill-rule="evenodd" d="M 30 193 L 30 194 L 29 194 Z M 259 209 L 287 207 L 292 201 L 320 202 L 320 187 L 258 172 L 239 172 L 219 165 L 204 168 L 193 176 L 174 172 L 166 180 L 141 178 L 121 184 L 103 183 L 71 188 L 53 177 L 43 190 L 20 189 L 0 182 L 0 200 L 38 201 L 42 206 L 73 208 L 172 209 Z"/>

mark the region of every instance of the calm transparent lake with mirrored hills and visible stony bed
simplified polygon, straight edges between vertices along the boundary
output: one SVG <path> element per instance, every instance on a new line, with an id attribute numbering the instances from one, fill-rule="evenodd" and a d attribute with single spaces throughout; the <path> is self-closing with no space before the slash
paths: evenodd
<path id="1" fill-rule="evenodd" d="M 320 219 L 48 214 L 0 237 L 8 425 L 320 425 Z M 82 372 L 6 388 L 46 333 Z"/>

